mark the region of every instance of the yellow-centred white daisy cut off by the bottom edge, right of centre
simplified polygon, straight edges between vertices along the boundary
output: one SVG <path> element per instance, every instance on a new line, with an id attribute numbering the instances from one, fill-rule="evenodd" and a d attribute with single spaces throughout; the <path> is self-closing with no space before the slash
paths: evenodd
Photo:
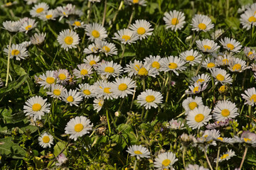
<path id="1" fill-rule="evenodd" d="M 177 162 L 176 156 L 172 152 L 159 154 L 154 161 L 154 167 L 157 169 L 172 169 L 172 165 Z"/>

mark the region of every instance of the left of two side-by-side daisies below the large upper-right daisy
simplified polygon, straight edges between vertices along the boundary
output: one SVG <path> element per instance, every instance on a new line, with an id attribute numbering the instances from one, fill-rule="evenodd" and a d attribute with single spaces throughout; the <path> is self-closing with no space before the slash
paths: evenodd
<path id="1" fill-rule="evenodd" d="M 220 48 L 217 43 L 208 39 L 196 40 L 196 45 L 203 52 L 215 52 Z"/>

